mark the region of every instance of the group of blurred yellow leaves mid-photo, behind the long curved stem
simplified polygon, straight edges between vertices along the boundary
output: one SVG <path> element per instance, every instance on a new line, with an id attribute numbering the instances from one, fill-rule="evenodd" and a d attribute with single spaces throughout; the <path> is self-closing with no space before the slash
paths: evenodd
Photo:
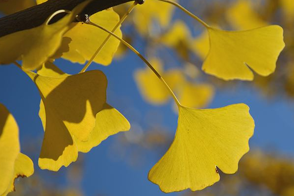
<path id="1" fill-rule="evenodd" d="M 159 59 L 153 58 L 150 63 L 165 78 L 183 105 L 201 108 L 213 98 L 214 88 L 211 85 L 188 81 L 180 69 L 171 69 L 165 72 Z M 135 80 L 143 98 L 148 102 L 164 104 L 170 100 L 169 91 L 150 69 L 136 71 Z"/>

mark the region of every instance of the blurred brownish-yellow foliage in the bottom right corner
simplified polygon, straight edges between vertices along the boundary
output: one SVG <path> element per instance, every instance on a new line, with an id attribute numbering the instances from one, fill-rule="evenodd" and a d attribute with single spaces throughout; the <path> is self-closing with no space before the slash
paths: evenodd
<path id="1" fill-rule="evenodd" d="M 245 157 L 242 175 L 255 185 L 266 186 L 279 196 L 294 195 L 294 160 L 260 150 Z"/>

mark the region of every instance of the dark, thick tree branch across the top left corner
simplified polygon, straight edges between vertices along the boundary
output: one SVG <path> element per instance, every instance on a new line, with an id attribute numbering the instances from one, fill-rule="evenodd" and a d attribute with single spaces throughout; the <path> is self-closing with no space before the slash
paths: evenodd
<path id="1" fill-rule="evenodd" d="M 45 3 L 2 17 L 0 18 L 0 37 L 42 25 L 53 12 L 60 9 L 73 10 L 83 1 L 85 0 L 48 0 Z M 92 15 L 128 1 L 132 0 L 93 0 L 81 14 Z M 54 17 L 54 20 L 57 21 L 61 17 Z"/>

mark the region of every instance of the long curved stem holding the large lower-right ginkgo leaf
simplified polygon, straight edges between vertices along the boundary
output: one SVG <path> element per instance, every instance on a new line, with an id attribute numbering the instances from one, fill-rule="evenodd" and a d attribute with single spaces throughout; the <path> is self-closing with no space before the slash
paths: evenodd
<path id="1" fill-rule="evenodd" d="M 166 81 L 163 79 L 163 77 L 154 69 L 154 67 L 147 61 L 147 59 L 142 56 L 140 54 L 140 52 L 138 52 L 138 50 L 134 49 L 129 43 L 127 43 L 126 41 L 124 41 L 122 38 L 120 38 L 119 36 L 117 36 L 116 34 L 114 34 L 113 32 L 107 30 L 106 28 L 97 25 L 95 23 L 92 23 L 91 21 L 89 21 L 87 24 L 89 25 L 94 25 L 104 31 L 106 31 L 107 33 L 109 33 L 110 35 L 114 36 L 115 38 L 117 38 L 118 40 L 120 40 L 127 48 L 131 49 L 135 54 L 137 54 L 145 63 L 146 65 L 152 70 L 153 73 L 155 73 L 155 75 L 162 81 L 162 83 L 165 85 L 165 87 L 168 89 L 168 91 L 170 92 L 173 100 L 175 101 L 175 103 L 178 106 L 181 106 L 179 100 L 175 97 L 174 93 L 172 92 L 172 89 L 169 87 L 169 85 L 166 83 Z"/>

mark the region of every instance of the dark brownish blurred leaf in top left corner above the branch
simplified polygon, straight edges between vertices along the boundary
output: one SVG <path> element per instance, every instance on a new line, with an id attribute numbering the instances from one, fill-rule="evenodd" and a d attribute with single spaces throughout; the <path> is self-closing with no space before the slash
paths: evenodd
<path id="1" fill-rule="evenodd" d="M 34 5 L 36 5 L 34 0 L 0 0 L 0 12 L 13 14 Z"/>

